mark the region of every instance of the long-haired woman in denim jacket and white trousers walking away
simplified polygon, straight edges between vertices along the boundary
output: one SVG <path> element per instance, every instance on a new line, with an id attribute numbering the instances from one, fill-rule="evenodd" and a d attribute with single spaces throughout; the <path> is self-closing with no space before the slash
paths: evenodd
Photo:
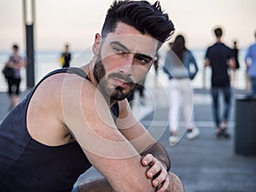
<path id="1" fill-rule="evenodd" d="M 172 51 L 175 55 L 173 55 Z M 173 57 L 177 57 L 179 61 L 173 59 Z M 179 68 L 179 74 L 177 74 L 175 70 L 172 71 L 172 67 L 175 65 Z M 194 70 L 192 70 L 192 68 Z M 170 50 L 167 52 L 164 64 L 164 72 L 167 73 L 169 77 L 169 127 L 171 131 L 169 142 L 170 145 L 173 145 L 177 143 L 180 138 L 177 136 L 180 108 L 182 108 L 183 116 L 187 124 L 186 137 L 193 139 L 200 134 L 194 122 L 193 88 L 190 82 L 190 80 L 195 78 L 198 72 L 198 66 L 194 55 L 192 55 L 191 51 L 185 46 L 185 38 L 183 35 L 177 35 L 174 43 L 170 44 Z M 180 97 L 182 98 L 181 104 Z"/>

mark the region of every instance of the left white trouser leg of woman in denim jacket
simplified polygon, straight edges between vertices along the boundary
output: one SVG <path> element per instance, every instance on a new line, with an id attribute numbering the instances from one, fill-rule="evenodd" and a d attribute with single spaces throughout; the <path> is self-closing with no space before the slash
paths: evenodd
<path id="1" fill-rule="evenodd" d="M 177 131 L 180 111 L 180 94 L 175 79 L 169 80 L 169 127 L 171 132 Z"/>

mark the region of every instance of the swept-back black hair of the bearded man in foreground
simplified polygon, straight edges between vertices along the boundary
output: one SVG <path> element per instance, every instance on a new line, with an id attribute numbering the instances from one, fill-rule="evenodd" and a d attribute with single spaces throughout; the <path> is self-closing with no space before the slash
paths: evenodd
<path id="1" fill-rule="evenodd" d="M 134 26 L 142 34 L 147 33 L 161 43 L 174 32 L 172 20 L 163 13 L 158 1 L 154 4 L 147 1 L 114 1 L 102 26 L 102 38 L 115 30 L 118 21 Z"/>

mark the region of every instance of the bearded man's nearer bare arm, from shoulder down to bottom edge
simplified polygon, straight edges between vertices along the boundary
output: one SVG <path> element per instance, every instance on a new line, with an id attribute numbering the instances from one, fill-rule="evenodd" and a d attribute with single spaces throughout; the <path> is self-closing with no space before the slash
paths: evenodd
<path id="1" fill-rule="evenodd" d="M 90 163 L 116 192 L 153 192 L 145 175 L 147 167 L 141 165 L 141 156 L 113 123 L 101 93 L 89 81 L 69 76 L 62 87 L 63 116 Z"/>

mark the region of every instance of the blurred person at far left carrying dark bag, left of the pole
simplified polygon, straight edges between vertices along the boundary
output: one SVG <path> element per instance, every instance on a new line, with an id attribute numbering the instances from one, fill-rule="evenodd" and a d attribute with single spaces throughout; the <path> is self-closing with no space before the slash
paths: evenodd
<path id="1" fill-rule="evenodd" d="M 25 67 L 25 61 L 19 54 L 17 44 L 13 45 L 13 53 L 5 65 L 5 68 L 7 67 L 12 71 L 8 76 L 5 75 L 8 83 L 9 110 L 11 110 L 20 102 L 20 68 Z"/>

